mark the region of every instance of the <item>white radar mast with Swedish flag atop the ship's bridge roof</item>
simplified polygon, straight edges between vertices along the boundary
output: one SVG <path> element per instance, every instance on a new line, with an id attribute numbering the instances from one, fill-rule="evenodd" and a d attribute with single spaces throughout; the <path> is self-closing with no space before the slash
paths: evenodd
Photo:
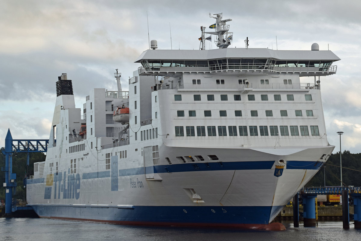
<path id="1" fill-rule="evenodd" d="M 216 43 L 218 48 L 227 48 L 231 45 L 232 39 L 233 39 L 233 33 L 228 32 L 229 25 L 226 25 L 226 22 L 232 21 L 231 19 L 222 20 L 222 13 L 213 14 L 216 15 L 216 17 L 211 16 L 209 13 L 209 17 L 215 18 L 216 23 L 213 25 L 210 25 L 210 29 L 215 29 L 214 32 L 205 32 L 206 34 L 214 34 L 217 35 L 216 40 L 214 40 L 214 43 Z"/>

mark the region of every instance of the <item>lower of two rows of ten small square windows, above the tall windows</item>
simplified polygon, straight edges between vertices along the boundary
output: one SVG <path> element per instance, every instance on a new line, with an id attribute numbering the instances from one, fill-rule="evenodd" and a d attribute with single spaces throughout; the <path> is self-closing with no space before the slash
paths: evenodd
<path id="1" fill-rule="evenodd" d="M 265 112 L 266 112 L 266 116 L 273 116 L 273 111 L 272 110 L 266 110 Z M 188 111 L 188 115 L 190 117 L 194 117 L 194 116 L 196 116 L 196 111 Z M 288 116 L 287 110 L 281 110 L 280 115 L 281 116 Z M 184 117 L 184 111 L 177 111 L 177 116 L 178 117 Z M 210 110 L 204 111 L 204 116 L 206 116 L 206 117 L 212 116 L 212 111 L 210 111 Z M 227 111 L 226 110 L 220 110 L 219 111 L 219 116 L 227 116 Z M 242 111 L 235 110 L 234 111 L 234 116 L 242 116 Z M 251 116 L 258 116 L 258 111 L 251 110 Z M 302 116 L 302 110 L 295 110 L 295 116 Z M 313 116 L 313 111 L 312 110 L 306 110 L 306 116 Z"/>

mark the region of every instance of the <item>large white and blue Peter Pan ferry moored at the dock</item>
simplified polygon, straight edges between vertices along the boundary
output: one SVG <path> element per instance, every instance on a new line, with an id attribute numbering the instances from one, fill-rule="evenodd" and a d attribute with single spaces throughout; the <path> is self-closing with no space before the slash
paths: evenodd
<path id="1" fill-rule="evenodd" d="M 81 109 L 67 74 L 58 77 L 46 160 L 26 181 L 39 217 L 284 229 L 275 216 L 334 149 L 320 77 L 340 59 L 317 43 L 231 48 L 231 19 L 209 16 L 200 50 L 152 40 L 128 91 L 117 70 L 117 91 L 93 89 Z M 208 34 L 217 49 L 205 49 Z"/>

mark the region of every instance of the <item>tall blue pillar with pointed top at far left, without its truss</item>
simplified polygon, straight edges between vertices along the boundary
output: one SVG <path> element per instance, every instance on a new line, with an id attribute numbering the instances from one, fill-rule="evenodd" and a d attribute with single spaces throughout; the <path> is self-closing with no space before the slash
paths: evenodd
<path id="1" fill-rule="evenodd" d="M 12 136 L 10 129 L 5 137 L 5 167 L 1 168 L 1 171 L 5 171 L 5 214 L 11 214 L 12 202 L 13 202 L 13 188 L 16 186 L 16 174 L 13 172 L 13 147 L 12 147 Z"/>

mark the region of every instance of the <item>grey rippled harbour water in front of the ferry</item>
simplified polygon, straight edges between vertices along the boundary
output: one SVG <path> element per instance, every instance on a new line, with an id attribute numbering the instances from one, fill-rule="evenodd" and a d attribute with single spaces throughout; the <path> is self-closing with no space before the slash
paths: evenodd
<path id="1" fill-rule="evenodd" d="M 329 241 L 361 240 L 361 230 L 342 222 L 319 222 L 316 228 L 294 228 L 284 223 L 286 231 L 239 231 L 181 227 L 139 227 L 113 224 L 85 223 L 52 219 L 0 218 L 0 240 L 131 240 L 131 241 L 235 241 L 235 240 L 295 240 Z"/>

